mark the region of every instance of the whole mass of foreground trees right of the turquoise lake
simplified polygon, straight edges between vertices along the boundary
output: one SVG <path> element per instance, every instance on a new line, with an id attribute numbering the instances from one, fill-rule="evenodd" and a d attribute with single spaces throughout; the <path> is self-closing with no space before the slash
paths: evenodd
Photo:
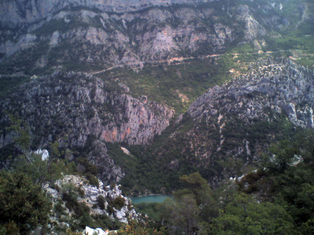
<path id="1" fill-rule="evenodd" d="M 261 168 L 212 191 L 199 173 L 163 203 L 169 234 L 298 235 L 314 231 L 313 133 L 274 144 Z"/>

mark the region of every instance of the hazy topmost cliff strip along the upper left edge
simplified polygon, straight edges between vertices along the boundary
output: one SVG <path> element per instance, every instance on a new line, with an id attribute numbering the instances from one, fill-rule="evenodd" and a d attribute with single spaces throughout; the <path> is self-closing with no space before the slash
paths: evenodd
<path id="1" fill-rule="evenodd" d="M 212 0 L 197 0 L 208 2 Z M 3 0 L 0 3 L 0 21 L 5 24 L 29 24 L 51 17 L 65 7 L 88 7 L 103 11 L 134 11 L 148 6 L 188 3 L 188 0 Z"/>

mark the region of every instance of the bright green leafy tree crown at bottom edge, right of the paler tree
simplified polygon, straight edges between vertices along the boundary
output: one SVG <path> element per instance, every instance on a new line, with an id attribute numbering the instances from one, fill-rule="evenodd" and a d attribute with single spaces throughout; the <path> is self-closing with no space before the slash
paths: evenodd
<path id="1" fill-rule="evenodd" d="M 240 194 L 213 220 L 211 234 L 298 235 L 298 232 L 292 217 L 282 206 L 258 203 Z"/>

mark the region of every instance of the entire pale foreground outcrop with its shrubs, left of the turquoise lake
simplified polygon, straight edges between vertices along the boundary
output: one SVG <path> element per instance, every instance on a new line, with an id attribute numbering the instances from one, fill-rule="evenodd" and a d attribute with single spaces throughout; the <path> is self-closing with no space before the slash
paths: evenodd
<path id="1" fill-rule="evenodd" d="M 58 229 L 62 228 L 85 228 L 88 221 L 86 215 L 78 215 L 79 207 L 82 208 L 81 211 L 88 211 L 85 213 L 90 213 L 91 218 L 102 223 L 104 229 L 114 226 L 118 221 L 127 223 L 128 219 L 140 219 L 140 215 L 131 205 L 131 199 L 122 194 L 119 185 L 105 186 L 98 181 L 95 186 L 87 182 L 84 177 L 66 175 L 53 182 L 52 188 L 45 188 L 52 197 L 53 204 L 49 222 L 51 234 L 58 234 Z"/>

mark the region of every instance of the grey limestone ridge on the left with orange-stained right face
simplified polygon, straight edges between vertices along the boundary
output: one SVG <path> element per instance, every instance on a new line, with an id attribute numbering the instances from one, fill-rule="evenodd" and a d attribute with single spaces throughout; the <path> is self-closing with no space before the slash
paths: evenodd
<path id="1" fill-rule="evenodd" d="M 102 80 L 80 73 L 33 79 L 6 97 L 1 110 L 2 120 L 4 110 L 18 112 L 45 141 L 67 136 L 70 146 L 83 146 L 90 135 L 101 141 L 145 144 L 174 115 L 145 97 L 107 92 Z"/>

